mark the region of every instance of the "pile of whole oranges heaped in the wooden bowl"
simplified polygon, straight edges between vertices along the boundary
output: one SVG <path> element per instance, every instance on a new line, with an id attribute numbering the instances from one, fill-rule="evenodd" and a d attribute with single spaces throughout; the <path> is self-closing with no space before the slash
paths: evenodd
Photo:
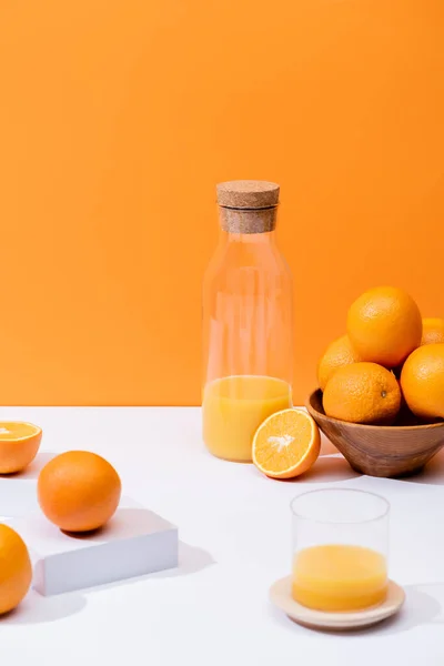
<path id="1" fill-rule="evenodd" d="M 444 418 L 444 319 L 423 319 L 393 286 L 363 293 L 350 307 L 346 335 L 317 365 L 325 414 L 364 424 Z"/>

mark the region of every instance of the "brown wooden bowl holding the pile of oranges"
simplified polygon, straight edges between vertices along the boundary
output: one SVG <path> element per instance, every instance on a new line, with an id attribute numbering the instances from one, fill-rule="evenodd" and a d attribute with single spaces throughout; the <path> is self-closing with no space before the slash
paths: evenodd
<path id="1" fill-rule="evenodd" d="M 444 446 L 444 422 L 362 425 L 339 421 L 325 415 L 320 390 L 310 395 L 305 406 L 353 470 L 369 476 L 416 474 Z"/>

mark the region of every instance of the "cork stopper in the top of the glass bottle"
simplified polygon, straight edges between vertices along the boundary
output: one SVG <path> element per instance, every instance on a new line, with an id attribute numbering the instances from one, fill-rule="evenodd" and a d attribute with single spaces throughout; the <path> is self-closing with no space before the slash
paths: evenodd
<path id="1" fill-rule="evenodd" d="M 229 233 L 265 233 L 276 226 L 280 186 L 268 181 L 230 181 L 216 186 L 220 220 Z"/>

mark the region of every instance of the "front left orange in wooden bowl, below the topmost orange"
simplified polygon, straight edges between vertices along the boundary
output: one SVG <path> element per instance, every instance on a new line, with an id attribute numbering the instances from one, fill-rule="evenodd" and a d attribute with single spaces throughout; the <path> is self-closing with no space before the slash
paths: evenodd
<path id="1" fill-rule="evenodd" d="M 401 407 L 401 390 L 390 370 L 376 363 L 340 367 L 323 394 L 327 416 L 351 423 L 390 424 Z"/>

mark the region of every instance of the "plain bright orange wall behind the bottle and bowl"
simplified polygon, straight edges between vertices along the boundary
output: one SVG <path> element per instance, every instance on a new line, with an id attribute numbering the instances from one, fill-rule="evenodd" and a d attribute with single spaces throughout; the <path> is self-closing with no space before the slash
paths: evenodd
<path id="1" fill-rule="evenodd" d="M 199 403 L 222 180 L 281 183 L 296 402 L 365 287 L 444 314 L 442 0 L 2 0 L 0 63 L 0 403 Z"/>

